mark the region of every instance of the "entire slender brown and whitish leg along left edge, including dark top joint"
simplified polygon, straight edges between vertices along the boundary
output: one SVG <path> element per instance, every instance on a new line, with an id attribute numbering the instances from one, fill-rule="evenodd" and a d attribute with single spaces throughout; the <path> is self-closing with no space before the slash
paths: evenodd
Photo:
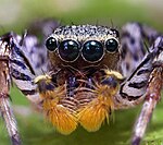
<path id="1" fill-rule="evenodd" d="M 5 38 L 1 39 L 0 45 L 0 113 L 4 120 L 8 133 L 12 145 L 21 145 L 21 138 L 17 130 L 16 120 L 13 113 L 13 110 L 10 106 L 10 69 L 9 69 L 9 53 L 10 53 L 10 44 L 5 44 L 3 39 L 9 41 L 12 39 L 10 34 L 3 36 Z"/>

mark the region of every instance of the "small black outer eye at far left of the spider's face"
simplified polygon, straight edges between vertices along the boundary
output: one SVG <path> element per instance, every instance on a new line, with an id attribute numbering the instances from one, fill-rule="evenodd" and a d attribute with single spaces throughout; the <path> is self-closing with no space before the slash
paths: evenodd
<path id="1" fill-rule="evenodd" d="M 48 50 L 50 51 L 54 51 L 58 47 L 58 41 L 55 38 L 53 37 L 49 37 L 47 40 L 46 40 L 46 47 Z"/>

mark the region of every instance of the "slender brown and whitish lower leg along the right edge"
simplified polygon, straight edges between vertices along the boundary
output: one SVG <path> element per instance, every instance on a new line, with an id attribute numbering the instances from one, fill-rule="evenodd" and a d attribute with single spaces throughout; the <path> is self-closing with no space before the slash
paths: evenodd
<path id="1" fill-rule="evenodd" d="M 159 45 L 163 45 L 162 39 Z M 162 49 L 162 46 L 158 46 Z M 148 122 L 150 121 L 153 110 L 161 98 L 161 89 L 163 87 L 163 51 L 156 56 L 153 62 L 153 71 L 150 74 L 145 102 L 141 112 L 136 121 L 133 135 L 133 145 L 139 145 L 146 132 Z"/>

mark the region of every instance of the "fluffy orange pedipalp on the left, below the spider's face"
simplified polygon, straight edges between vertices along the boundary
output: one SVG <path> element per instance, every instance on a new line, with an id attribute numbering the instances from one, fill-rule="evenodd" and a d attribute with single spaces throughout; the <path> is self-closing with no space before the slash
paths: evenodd
<path id="1" fill-rule="evenodd" d="M 49 96 L 58 96 L 57 92 L 49 92 L 43 99 L 43 111 L 47 114 L 48 120 L 54 125 L 54 128 L 62 134 L 72 133 L 77 126 L 77 119 L 74 112 L 71 112 L 67 108 L 59 104 L 59 97 L 49 98 Z"/>

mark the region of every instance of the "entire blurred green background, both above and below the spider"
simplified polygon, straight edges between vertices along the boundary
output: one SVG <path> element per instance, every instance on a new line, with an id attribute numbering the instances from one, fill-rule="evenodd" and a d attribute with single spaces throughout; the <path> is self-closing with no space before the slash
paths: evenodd
<path id="1" fill-rule="evenodd" d="M 21 34 L 39 19 L 52 17 L 64 24 L 99 24 L 118 29 L 127 22 L 146 23 L 163 32 L 162 0 L 0 0 L 0 34 L 13 31 Z M 114 113 L 114 120 L 96 133 L 79 128 L 68 136 L 61 135 L 30 108 L 28 100 L 14 88 L 12 102 L 16 111 L 23 145 L 127 145 L 134 122 L 141 109 L 138 106 Z M 25 108 L 24 108 L 25 107 Z M 18 110 L 16 109 L 16 110 Z M 24 109 L 24 111 L 23 111 Z M 163 143 L 163 104 L 154 111 L 142 144 Z M 23 113 L 22 113 L 23 112 Z M 0 119 L 0 145 L 9 145 L 5 126 Z"/>

